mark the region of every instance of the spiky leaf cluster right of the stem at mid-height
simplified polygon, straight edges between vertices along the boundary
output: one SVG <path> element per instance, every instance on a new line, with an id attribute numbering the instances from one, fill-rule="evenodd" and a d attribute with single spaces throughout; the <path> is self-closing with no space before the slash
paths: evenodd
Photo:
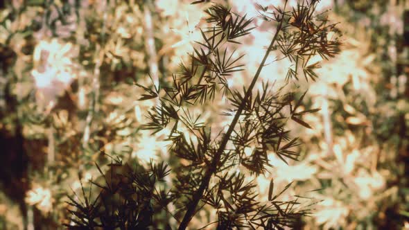
<path id="1" fill-rule="evenodd" d="M 297 160 L 299 154 L 295 147 L 299 143 L 297 138 L 291 139 L 290 130 L 285 128 L 286 121 L 290 118 L 304 127 L 312 128 L 302 121 L 302 115 L 320 110 L 308 109 L 299 112 L 297 109 L 302 105 L 306 92 L 297 100 L 295 94 L 282 92 L 283 88 L 274 93 L 272 88 L 273 85 L 266 83 L 256 96 L 250 95 L 243 109 L 242 121 L 238 124 L 239 129 L 235 130 L 231 137 L 238 162 L 256 175 L 264 174 L 270 166 L 267 157 L 269 152 L 275 152 L 286 163 L 286 159 Z M 234 91 L 229 100 L 234 107 L 238 107 L 242 103 L 243 95 Z M 246 156 L 246 148 L 251 149 L 250 156 Z"/>

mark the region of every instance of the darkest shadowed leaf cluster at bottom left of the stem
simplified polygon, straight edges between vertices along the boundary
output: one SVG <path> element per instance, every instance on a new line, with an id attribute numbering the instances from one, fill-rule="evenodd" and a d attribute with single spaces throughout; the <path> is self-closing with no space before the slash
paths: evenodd
<path id="1" fill-rule="evenodd" d="M 148 168 L 132 168 L 119 160 L 108 166 L 110 170 L 104 173 L 96 165 L 103 178 L 101 183 L 92 181 L 99 191 L 96 197 L 93 197 L 92 186 L 87 192 L 81 186 L 82 198 L 75 192 L 74 196 L 68 196 L 71 222 L 75 225 L 65 225 L 69 229 L 147 229 L 154 226 L 154 214 L 166 209 L 172 200 L 164 186 L 159 186 L 169 174 L 168 166 L 151 161 Z"/>

